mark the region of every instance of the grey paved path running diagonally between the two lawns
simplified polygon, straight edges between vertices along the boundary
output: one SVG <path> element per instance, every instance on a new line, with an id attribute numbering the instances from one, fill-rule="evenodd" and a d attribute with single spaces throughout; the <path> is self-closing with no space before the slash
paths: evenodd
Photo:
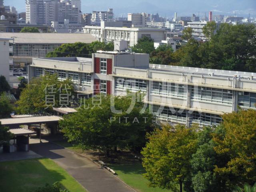
<path id="1" fill-rule="evenodd" d="M 55 144 L 30 144 L 30 150 L 54 160 L 89 192 L 134 192 L 92 161 Z"/>

